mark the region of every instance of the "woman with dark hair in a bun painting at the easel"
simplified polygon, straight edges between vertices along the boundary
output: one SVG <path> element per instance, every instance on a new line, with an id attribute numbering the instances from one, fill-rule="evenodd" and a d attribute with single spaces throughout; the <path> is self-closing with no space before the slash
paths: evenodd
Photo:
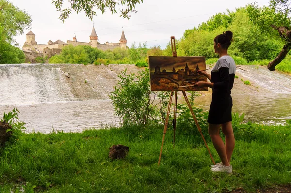
<path id="1" fill-rule="evenodd" d="M 231 124 L 232 98 L 230 94 L 235 76 L 235 62 L 227 53 L 231 40 L 231 31 L 226 31 L 214 38 L 214 50 L 215 53 L 219 54 L 219 59 L 211 70 L 211 75 L 206 71 L 198 71 L 199 74 L 206 76 L 210 82 L 199 81 L 195 84 L 197 87 L 212 88 L 212 102 L 207 120 L 208 133 L 222 161 L 211 166 L 213 172 L 232 173 L 230 158 L 235 140 Z M 225 134 L 225 144 L 219 135 L 220 127 Z"/>

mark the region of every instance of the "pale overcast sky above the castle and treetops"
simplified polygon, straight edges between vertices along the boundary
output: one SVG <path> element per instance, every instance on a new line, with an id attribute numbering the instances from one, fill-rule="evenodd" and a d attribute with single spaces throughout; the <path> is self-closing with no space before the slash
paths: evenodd
<path id="1" fill-rule="evenodd" d="M 180 39 L 187 29 L 193 29 L 200 23 L 206 22 L 212 15 L 234 11 L 255 0 L 144 0 L 136 5 L 137 13 L 130 13 L 130 20 L 119 17 L 119 13 L 111 15 L 107 11 L 103 15 L 97 11 L 91 21 L 84 13 L 72 13 L 63 23 L 60 12 L 56 11 L 52 0 L 9 0 L 21 10 L 32 16 L 32 29 L 38 44 L 47 44 L 49 40 L 58 39 L 66 42 L 72 40 L 76 34 L 77 41 L 89 42 L 93 22 L 101 44 L 105 42 L 119 42 L 122 29 L 127 39 L 127 46 L 135 42 L 146 43 L 147 47 L 160 45 L 164 49 L 170 37 Z M 256 0 L 257 5 L 268 5 L 269 0 Z M 63 8 L 67 8 L 68 4 Z M 116 11 L 118 12 L 117 7 Z M 26 34 L 16 36 L 15 39 L 22 47 L 26 41 Z"/>

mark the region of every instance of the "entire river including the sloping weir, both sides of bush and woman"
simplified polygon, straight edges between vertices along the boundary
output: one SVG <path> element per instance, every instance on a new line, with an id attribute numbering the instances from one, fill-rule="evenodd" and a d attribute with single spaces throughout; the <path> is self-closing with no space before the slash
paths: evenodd
<path id="1" fill-rule="evenodd" d="M 120 119 L 114 116 L 108 94 L 125 68 L 133 73 L 140 70 L 134 65 L 0 65 L 0 113 L 17 107 L 19 119 L 27 123 L 26 132 L 81 132 L 104 124 L 118 126 Z M 260 66 L 241 68 L 245 71 L 237 69 L 239 79 L 232 92 L 233 112 L 245 113 L 245 121 L 266 124 L 291 119 L 291 76 Z M 251 85 L 244 85 L 241 78 Z M 201 93 L 195 106 L 208 110 L 211 93 Z"/>

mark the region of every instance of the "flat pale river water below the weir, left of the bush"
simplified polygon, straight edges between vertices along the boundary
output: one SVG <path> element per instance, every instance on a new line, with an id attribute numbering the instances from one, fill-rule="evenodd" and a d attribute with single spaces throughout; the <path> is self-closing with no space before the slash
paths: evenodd
<path id="1" fill-rule="evenodd" d="M 79 132 L 89 127 L 103 124 L 119 125 L 120 119 L 114 116 L 110 100 L 71 101 L 41 103 L 35 105 L 0 106 L 0 112 L 9 112 L 14 107 L 20 111 L 19 119 L 26 123 L 26 132 L 57 131 Z"/>

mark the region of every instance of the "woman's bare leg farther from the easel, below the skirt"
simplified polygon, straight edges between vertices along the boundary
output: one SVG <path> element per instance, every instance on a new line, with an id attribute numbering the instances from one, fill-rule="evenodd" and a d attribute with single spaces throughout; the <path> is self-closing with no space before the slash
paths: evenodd
<path id="1" fill-rule="evenodd" d="M 222 132 L 226 136 L 226 154 L 228 162 L 230 162 L 230 158 L 234 149 L 235 139 L 232 129 L 231 121 L 221 124 Z"/>

